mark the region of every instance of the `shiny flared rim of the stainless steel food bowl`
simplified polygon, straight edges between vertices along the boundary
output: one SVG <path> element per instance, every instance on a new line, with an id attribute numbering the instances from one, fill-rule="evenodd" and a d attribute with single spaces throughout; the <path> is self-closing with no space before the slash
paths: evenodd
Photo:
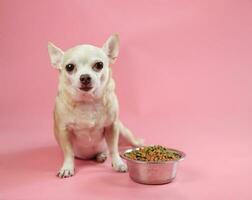
<path id="1" fill-rule="evenodd" d="M 151 146 L 154 146 L 154 145 L 148 145 L 146 147 L 151 147 Z M 179 159 L 166 160 L 166 161 L 141 161 L 141 160 L 130 159 L 124 155 L 125 153 L 129 153 L 131 151 L 138 150 L 139 148 L 141 148 L 141 147 L 129 148 L 127 150 L 124 150 L 124 151 L 120 152 L 120 156 L 127 161 L 134 162 L 134 163 L 141 163 L 141 164 L 166 164 L 166 163 L 178 162 L 178 161 L 184 160 L 184 158 L 186 157 L 186 154 L 184 152 L 179 151 L 177 149 L 167 148 L 167 147 L 165 147 L 165 148 L 167 148 L 170 151 L 174 151 L 174 152 L 178 153 L 181 157 Z"/>

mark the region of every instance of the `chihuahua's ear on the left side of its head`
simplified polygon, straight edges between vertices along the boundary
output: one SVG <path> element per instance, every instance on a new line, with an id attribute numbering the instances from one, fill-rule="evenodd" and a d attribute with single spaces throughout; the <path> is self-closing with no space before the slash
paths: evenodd
<path id="1" fill-rule="evenodd" d="M 48 53 L 51 59 L 51 64 L 56 69 L 60 69 L 64 52 L 60 48 L 56 47 L 53 43 L 48 42 Z"/>

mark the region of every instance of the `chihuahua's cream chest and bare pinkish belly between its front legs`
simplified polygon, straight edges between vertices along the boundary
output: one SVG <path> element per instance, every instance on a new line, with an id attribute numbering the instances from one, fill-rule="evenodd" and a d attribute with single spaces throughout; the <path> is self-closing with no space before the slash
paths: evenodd
<path id="1" fill-rule="evenodd" d="M 93 156 L 103 147 L 107 115 L 100 104 L 83 104 L 69 113 L 67 129 L 73 133 L 74 152 L 79 157 Z M 89 155 L 90 154 L 90 155 Z"/>

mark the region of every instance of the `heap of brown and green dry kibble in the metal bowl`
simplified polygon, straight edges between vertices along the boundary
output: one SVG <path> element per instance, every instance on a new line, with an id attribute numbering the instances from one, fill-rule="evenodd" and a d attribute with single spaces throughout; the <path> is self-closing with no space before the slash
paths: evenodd
<path id="1" fill-rule="evenodd" d="M 177 160 L 181 158 L 178 153 L 160 145 L 140 147 L 137 150 L 125 153 L 125 156 L 132 160 L 140 160 L 147 162 Z"/>

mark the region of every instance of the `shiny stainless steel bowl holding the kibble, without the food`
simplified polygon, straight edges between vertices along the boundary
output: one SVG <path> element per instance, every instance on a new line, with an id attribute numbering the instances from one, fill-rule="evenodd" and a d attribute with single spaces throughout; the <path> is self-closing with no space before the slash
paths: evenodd
<path id="1" fill-rule="evenodd" d="M 130 178 L 142 184 L 165 184 L 170 183 L 176 177 L 177 167 L 179 161 L 185 158 L 185 153 L 176 149 L 167 148 L 170 151 L 174 151 L 181 157 L 177 160 L 168 161 L 139 161 L 132 160 L 125 156 L 125 153 L 129 153 L 139 148 L 127 149 L 120 153 L 121 157 L 126 160 L 128 165 L 128 171 Z"/>

